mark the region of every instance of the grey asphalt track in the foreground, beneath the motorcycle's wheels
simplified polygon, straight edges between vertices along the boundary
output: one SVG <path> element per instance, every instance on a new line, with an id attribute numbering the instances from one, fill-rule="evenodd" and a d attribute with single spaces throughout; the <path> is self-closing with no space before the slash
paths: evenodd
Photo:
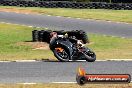
<path id="1" fill-rule="evenodd" d="M 0 83 L 76 82 L 79 66 L 89 74 L 132 75 L 132 61 L 1 62 Z"/>

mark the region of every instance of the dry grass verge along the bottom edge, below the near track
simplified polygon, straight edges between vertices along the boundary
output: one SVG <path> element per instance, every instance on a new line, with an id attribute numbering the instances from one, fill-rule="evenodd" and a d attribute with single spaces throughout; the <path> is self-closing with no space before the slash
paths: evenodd
<path id="1" fill-rule="evenodd" d="M 32 84 L 32 85 L 16 85 L 1 84 L 1 88 L 131 88 L 130 84 L 86 84 L 84 86 L 79 86 L 78 84 Z"/>

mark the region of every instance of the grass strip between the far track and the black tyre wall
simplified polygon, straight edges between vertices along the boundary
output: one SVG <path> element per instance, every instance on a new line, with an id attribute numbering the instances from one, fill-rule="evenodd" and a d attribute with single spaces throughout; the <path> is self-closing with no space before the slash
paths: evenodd
<path id="1" fill-rule="evenodd" d="M 24 10 L 40 14 L 48 14 L 64 17 L 75 17 L 84 19 L 110 20 L 132 23 L 132 10 L 106 10 L 106 9 L 70 9 L 70 8 L 39 8 L 39 7 L 10 7 L 0 6 L 4 9 L 14 9 L 22 12 Z"/>

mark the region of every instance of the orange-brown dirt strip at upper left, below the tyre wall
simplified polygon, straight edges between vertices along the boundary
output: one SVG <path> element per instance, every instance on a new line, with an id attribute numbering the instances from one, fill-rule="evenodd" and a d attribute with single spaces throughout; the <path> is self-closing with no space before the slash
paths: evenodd
<path id="1" fill-rule="evenodd" d="M 38 14 L 32 10 L 25 10 L 25 9 L 16 9 L 16 8 L 0 8 L 0 11 L 3 12 L 15 12 L 15 13 L 24 13 L 24 14 Z"/>

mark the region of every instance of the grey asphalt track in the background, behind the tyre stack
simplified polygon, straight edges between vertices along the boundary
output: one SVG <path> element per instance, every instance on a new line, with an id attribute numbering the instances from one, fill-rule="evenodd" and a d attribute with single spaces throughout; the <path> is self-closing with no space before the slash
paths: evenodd
<path id="1" fill-rule="evenodd" d="M 23 24 L 36 27 L 47 27 L 56 30 L 85 30 L 119 37 L 132 38 L 132 24 L 55 17 L 35 14 L 18 14 L 0 12 L 0 22 Z"/>

